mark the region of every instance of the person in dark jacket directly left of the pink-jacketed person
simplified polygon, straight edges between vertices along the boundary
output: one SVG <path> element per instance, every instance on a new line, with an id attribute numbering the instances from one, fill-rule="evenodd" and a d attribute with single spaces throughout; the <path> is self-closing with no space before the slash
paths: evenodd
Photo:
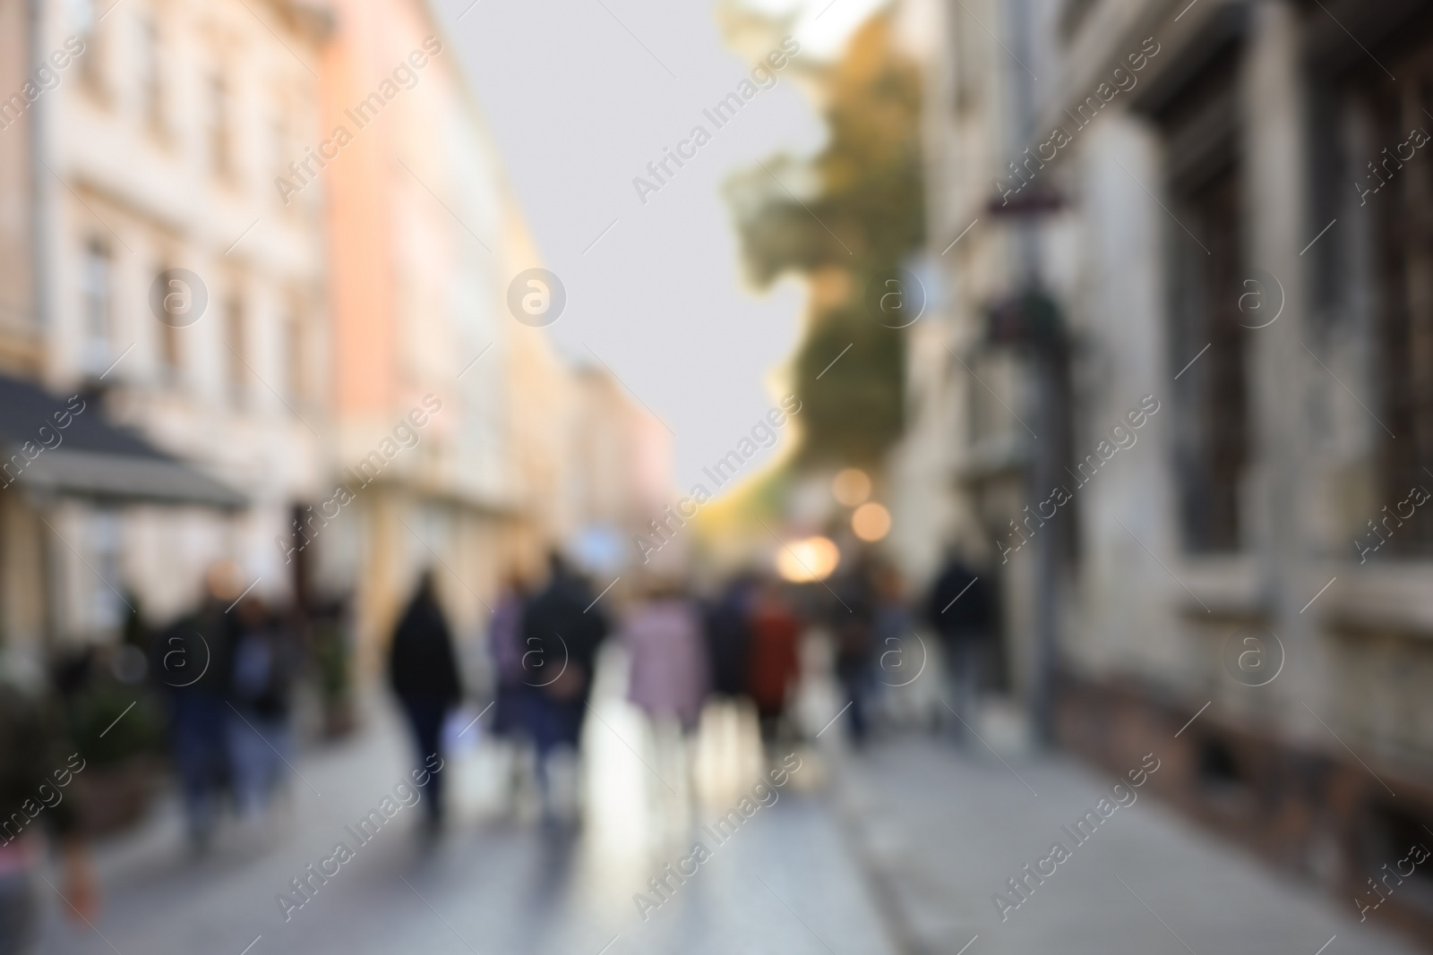
<path id="1" fill-rule="evenodd" d="M 522 623 L 523 683 L 529 687 L 523 722 L 537 750 L 537 779 L 545 790 L 547 757 L 560 746 L 575 749 L 582 737 L 598 647 L 608 636 L 608 619 L 593 604 L 588 584 L 560 554 L 550 554 L 547 564 L 547 584 L 529 601 Z"/>

